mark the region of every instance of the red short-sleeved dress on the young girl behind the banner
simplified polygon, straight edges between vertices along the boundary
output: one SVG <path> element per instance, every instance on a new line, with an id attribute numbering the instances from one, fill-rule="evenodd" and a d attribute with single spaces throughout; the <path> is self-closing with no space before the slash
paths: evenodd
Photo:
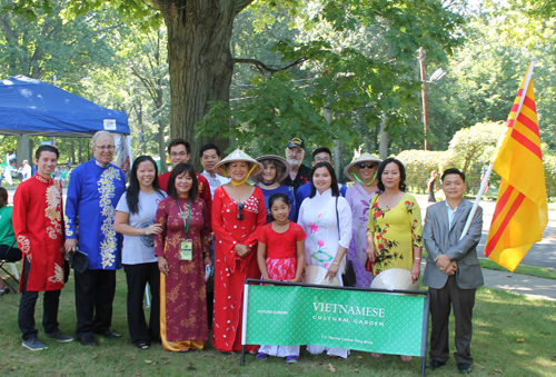
<path id="1" fill-rule="evenodd" d="M 289 228 L 282 234 L 272 229 L 272 222 L 259 230 L 259 242 L 267 246 L 267 271 L 271 280 L 285 281 L 296 277 L 297 242 L 306 239 L 304 228 L 289 221 Z"/>

